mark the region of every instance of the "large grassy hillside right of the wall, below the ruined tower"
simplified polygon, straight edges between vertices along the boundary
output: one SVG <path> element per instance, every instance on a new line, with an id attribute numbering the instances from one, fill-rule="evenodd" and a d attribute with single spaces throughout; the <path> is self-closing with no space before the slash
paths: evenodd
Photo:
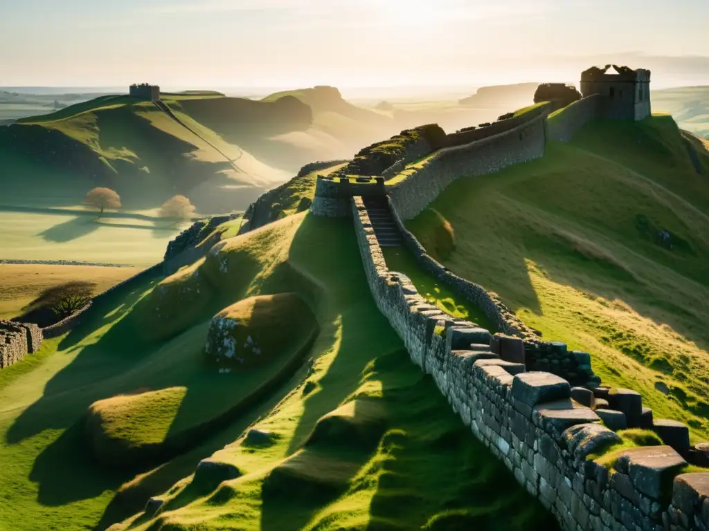
<path id="1" fill-rule="evenodd" d="M 656 416 L 709 436 L 709 188 L 669 116 L 594 122 L 431 207 L 457 236 L 450 270 L 545 339 L 593 353 L 603 381 Z M 425 239 L 435 224 L 409 227 Z"/>

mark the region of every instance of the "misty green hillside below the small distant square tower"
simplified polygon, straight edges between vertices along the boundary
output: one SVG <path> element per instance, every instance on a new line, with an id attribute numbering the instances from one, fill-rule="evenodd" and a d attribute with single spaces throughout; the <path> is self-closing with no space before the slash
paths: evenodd
<path id="1" fill-rule="evenodd" d="M 183 193 L 200 212 L 244 209 L 289 176 L 230 144 L 189 115 L 202 103 L 228 115 L 258 142 L 309 127 L 311 111 L 290 105 L 220 96 L 167 96 L 162 104 L 104 96 L 56 113 L 19 120 L 0 130 L 0 165 L 13 196 L 31 202 L 35 190 L 57 195 L 76 185 L 77 200 L 90 184 L 108 185 L 133 209 L 155 207 Z M 234 104 L 236 102 L 236 104 Z M 184 106 L 183 106 L 184 105 Z M 268 124 L 268 130 L 255 128 Z M 71 173 L 67 183 L 57 173 Z M 49 191 L 48 191 L 49 190 Z M 81 190 L 81 191 L 79 191 Z M 65 194 L 66 195 L 66 194 Z M 78 202 L 78 201 L 77 201 Z"/>

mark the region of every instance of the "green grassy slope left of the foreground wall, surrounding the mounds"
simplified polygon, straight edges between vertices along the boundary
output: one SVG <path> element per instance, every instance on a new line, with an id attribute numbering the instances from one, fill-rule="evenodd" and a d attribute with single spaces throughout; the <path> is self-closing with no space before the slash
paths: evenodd
<path id="1" fill-rule="evenodd" d="M 318 252 L 322 246 L 331 252 Z M 291 216 L 228 240 L 178 274 L 185 276 L 206 278 L 216 290 L 181 331 L 157 343 L 142 338 L 146 327 L 162 322 L 157 315 L 147 321 L 146 309 L 167 296 L 143 297 L 153 289 L 145 285 L 107 301 L 91 322 L 0 374 L 0 459 L 9 464 L 0 472 L 7 501 L 0 529 L 104 529 L 162 493 L 171 512 L 160 521 L 176 530 L 198 523 L 274 531 L 367 523 L 554 527 L 408 359 L 369 295 L 350 221 Z M 165 389 L 167 399 L 158 394 L 153 401 L 164 407 L 140 413 L 141 425 L 155 426 L 148 433 L 163 437 L 181 418 L 216 411 L 242 386 L 240 375 L 199 361 L 211 307 L 284 291 L 300 293 L 316 309 L 312 366 L 296 368 L 279 389 L 158 467 L 107 468 L 84 451 L 84 418 L 96 401 Z M 172 304 L 191 304 L 176 297 Z M 242 445 L 238 435 L 250 425 L 272 432 L 273 444 Z M 210 455 L 244 475 L 219 487 L 191 484 L 196 464 Z"/>

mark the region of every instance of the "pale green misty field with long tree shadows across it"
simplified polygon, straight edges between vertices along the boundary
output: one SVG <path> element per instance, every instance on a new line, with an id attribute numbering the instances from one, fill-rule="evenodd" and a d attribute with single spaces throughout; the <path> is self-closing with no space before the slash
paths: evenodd
<path id="1" fill-rule="evenodd" d="M 138 219 L 0 212 L 0 259 L 76 260 L 147 266 L 182 229 Z"/>

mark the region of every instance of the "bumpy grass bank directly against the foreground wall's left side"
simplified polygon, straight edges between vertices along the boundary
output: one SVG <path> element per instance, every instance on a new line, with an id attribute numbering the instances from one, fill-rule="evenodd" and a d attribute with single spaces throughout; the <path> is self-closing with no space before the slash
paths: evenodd
<path id="1" fill-rule="evenodd" d="M 228 445 L 210 459 L 238 469 L 238 478 L 211 493 L 191 477 L 178 481 L 160 496 L 160 513 L 115 529 L 409 530 L 444 528 L 435 526 L 452 519 L 555 529 L 462 426 L 376 311 L 352 222 L 294 219 L 287 260 L 320 285 L 322 330 L 313 367 L 252 425 L 274 434 L 273 444 Z M 318 252 L 323 245 L 328 253 Z"/>

